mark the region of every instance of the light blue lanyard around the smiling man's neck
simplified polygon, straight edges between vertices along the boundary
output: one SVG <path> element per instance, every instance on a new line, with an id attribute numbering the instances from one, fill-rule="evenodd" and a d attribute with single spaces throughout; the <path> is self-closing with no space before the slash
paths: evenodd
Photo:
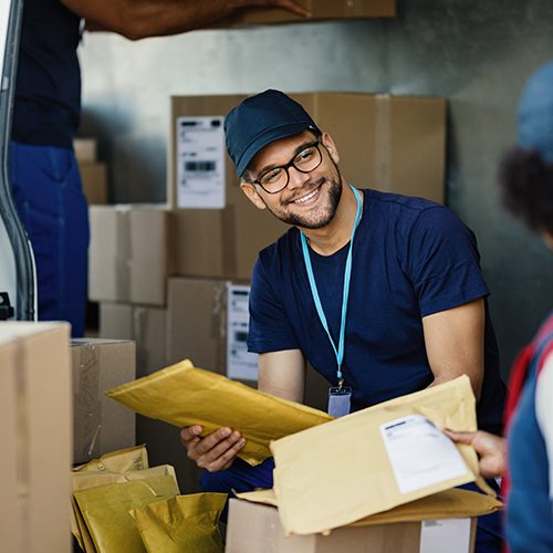
<path id="1" fill-rule="evenodd" d="M 331 341 L 332 347 L 336 355 L 336 362 L 338 365 L 337 369 L 337 378 L 338 378 L 338 387 L 342 388 L 342 384 L 344 383 L 344 378 L 342 377 L 342 362 L 344 361 L 344 338 L 345 338 L 345 323 L 346 323 L 346 314 L 347 314 L 347 298 L 349 296 L 349 281 L 352 279 L 352 248 L 353 248 L 353 239 L 355 237 L 355 231 L 357 230 L 357 226 L 361 219 L 361 195 L 359 192 L 349 185 L 349 188 L 353 190 L 355 196 L 355 201 L 357 202 L 357 213 L 355 215 L 355 223 L 352 230 L 352 238 L 349 239 L 349 251 L 347 252 L 346 265 L 344 271 L 344 292 L 342 296 L 342 323 L 340 326 L 340 341 L 338 347 L 336 349 L 336 345 L 331 336 L 331 331 L 328 330 L 328 323 L 326 322 L 326 316 L 323 311 L 323 304 L 321 303 L 321 298 L 319 296 L 319 290 L 316 288 L 315 275 L 313 274 L 313 267 L 311 264 L 311 257 L 307 248 L 307 239 L 303 232 L 300 232 L 302 240 L 302 251 L 303 251 L 303 261 L 305 262 L 305 269 L 307 270 L 307 278 L 311 286 L 311 294 L 313 295 L 313 301 L 315 302 L 316 312 L 319 314 L 319 319 L 321 320 L 321 324 L 323 325 L 328 340 Z"/>

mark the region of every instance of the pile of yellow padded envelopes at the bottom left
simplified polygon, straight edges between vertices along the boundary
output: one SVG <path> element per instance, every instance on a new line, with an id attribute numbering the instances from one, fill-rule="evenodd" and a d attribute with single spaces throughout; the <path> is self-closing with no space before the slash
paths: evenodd
<path id="1" fill-rule="evenodd" d="M 174 468 L 149 468 L 144 446 L 75 468 L 72 483 L 72 531 L 86 553 L 223 551 L 227 495 L 179 495 Z"/>

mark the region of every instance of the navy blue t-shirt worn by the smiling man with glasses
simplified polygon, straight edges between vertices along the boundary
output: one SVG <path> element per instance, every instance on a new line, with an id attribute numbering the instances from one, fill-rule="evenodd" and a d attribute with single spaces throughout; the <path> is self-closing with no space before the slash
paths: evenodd
<path id="1" fill-rule="evenodd" d="M 337 344 L 349 244 L 311 250 L 326 320 Z M 421 198 L 364 190 L 353 246 L 343 374 L 354 410 L 427 387 L 434 379 L 421 319 L 489 295 L 474 234 L 447 208 Z M 261 251 L 250 294 L 249 349 L 301 349 L 333 385 L 336 356 L 316 313 L 300 232 L 291 228 Z M 493 328 L 486 320 L 479 427 L 501 431 L 504 385 Z"/>

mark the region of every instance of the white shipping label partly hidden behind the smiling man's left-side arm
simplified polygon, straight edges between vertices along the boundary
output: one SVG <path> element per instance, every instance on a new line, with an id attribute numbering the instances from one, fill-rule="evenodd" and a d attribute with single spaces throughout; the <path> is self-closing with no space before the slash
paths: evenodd
<path id="1" fill-rule="evenodd" d="M 258 379 L 258 354 L 248 352 L 250 286 L 227 288 L 227 376 L 240 380 Z"/>

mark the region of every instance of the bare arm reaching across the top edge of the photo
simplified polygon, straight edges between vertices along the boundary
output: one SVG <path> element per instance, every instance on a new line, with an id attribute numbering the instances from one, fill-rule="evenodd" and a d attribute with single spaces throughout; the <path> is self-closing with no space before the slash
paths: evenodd
<path id="1" fill-rule="evenodd" d="M 294 0 L 61 0 L 91 30 L 113 31 L 131 40 L 177 34 L 209 25 L 241 8 L 281 8 L 310 12 Z"/>

